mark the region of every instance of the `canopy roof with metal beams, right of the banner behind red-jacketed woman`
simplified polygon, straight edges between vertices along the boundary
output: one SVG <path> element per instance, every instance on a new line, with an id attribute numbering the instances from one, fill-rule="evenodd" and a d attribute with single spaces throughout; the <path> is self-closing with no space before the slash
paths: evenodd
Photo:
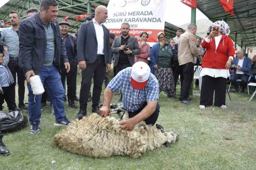
<path id="1" fill-rule="evenodd" d="M 197 0 L 197 8 L 212 22 L 225 20 L 230 37 L 241 48 L 256 46 L 256 0 L 234 0 L 233 16 L 225 12 L 219 0 Z"/>

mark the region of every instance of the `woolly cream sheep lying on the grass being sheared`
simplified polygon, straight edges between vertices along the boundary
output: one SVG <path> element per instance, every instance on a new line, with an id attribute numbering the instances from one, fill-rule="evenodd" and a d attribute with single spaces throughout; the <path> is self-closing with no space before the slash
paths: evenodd
<path id="1" fill-rule="evenodd" d="M 95 158 L 112 155 L 137 158 L 146 150 L 173 144 L 178 139 L 176 133 L 162 133 L 155 126 L 146 125 L 144 121 L 132 131 L 124 131 L 119 123 L 114 117 L 92 114 L 73 121 L 66 129 L 57 133 L 54 143 L 63 150 Z"/>

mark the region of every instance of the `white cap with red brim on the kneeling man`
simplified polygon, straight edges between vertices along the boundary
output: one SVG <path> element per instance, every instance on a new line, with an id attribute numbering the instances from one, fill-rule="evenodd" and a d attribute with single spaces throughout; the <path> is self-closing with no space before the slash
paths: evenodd
<path id="1" fill-rule="evenodd" d="M 143 89 L 146 87 L 148 78 L 150 76 L 149 66 L 142 62 L 138 61 L 132 66 L 131 70 L 131 85 L 135 89 Z"/>

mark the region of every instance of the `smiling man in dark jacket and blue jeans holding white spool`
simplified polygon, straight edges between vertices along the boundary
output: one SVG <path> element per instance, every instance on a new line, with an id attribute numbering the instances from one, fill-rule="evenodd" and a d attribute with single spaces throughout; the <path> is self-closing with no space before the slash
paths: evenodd
<path id="1" fill-rule="evenodd" d="M 30 133 L 39 133 L 41 117 L 41 97 L 31 90 L 30 76 L 39 75 L 42 84 L 46 81 L 53 95 L 55 126 L 67 126 L 70 121 L 65 117 L 64 89 L 58 72 L 64 63 L 67 72 L 68 62 L 64 39 L 61 36 L 56 0 L 42 0 L 41 9 L 35 15 L 24 19 L 19 25 L 19 65 L 26 73 L 29 89 Z"/>

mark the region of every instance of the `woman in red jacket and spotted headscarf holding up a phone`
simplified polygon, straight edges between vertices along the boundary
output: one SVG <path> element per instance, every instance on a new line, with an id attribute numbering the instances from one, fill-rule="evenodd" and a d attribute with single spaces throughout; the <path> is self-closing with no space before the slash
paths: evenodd
<path id="1" fill-rule="evenodd" d="M 213 28 L 217 27 L 217 31 Z M 201 76 L 200 109 L 211 106 L 215 91 L 214 106 L 226 109 L 226 86 L 229 68 L 234 59 L 234 43 L 230 37 L 230 28 L 226 22 L 217 21 L 212 24 L 210 35 L 206 37 L 201 45 L 206 49 L 203 58 Z"/>

